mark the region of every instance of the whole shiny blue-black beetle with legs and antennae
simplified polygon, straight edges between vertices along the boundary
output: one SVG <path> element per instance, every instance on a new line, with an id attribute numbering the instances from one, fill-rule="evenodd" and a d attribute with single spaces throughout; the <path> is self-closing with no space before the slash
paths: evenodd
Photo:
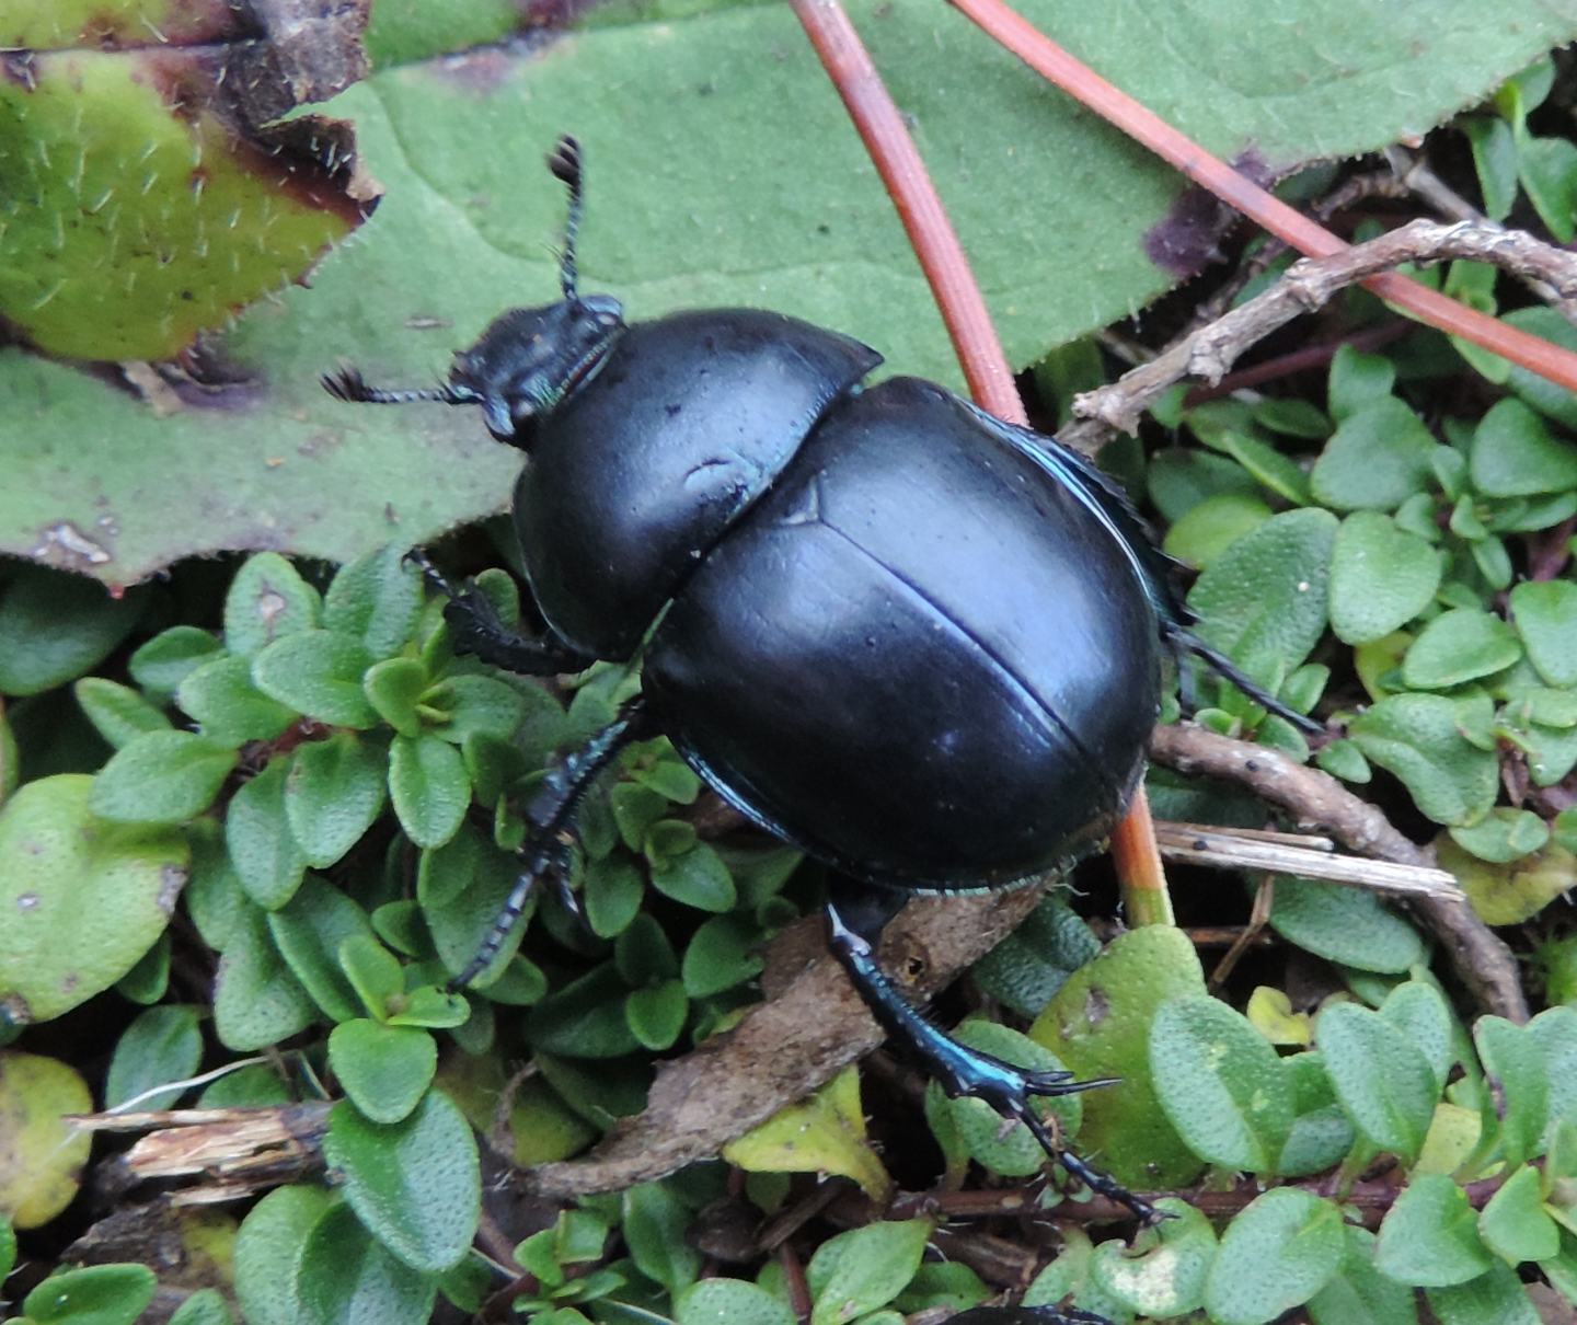
<path id="1" fill-rule="evenodd" d="M 587 790 L 665 733 L 724 800 L 839 871 L 831 948 L 886 1030 L 951 1095 L 1016 1117 L 1071 1174 L 1153 1207 L 1060 1147 L 1033 1096 L 1102 1082 L 1030 1073 L 910 1008 L 871 940 L 915 891 L 995 888 L 1066 864 L 1118 822 L 1159 708 L 1162 645 L 1310 726 L 1187 631 L 1123 494 L 1082 456 L 941 386 L 891 377 L 848 336 L 759 309 L 626 323 L 580 295 L 579 148 L 563 298 L 511 309 L 431 390 L 345 369 L 342 401 L 479 405 L 527 453 L 514 525 L 541 637 L 473 588 L 456 648 L 530 675 L 642 662 L 642 692 L 527 806 L 525 866 L 457 984 L 501 950 Z"/>

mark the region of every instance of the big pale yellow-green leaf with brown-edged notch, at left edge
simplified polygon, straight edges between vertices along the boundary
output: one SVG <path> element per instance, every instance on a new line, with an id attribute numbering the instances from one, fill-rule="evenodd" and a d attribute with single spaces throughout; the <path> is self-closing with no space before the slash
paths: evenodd
<path id="1" fill-rule="evenodd" d="M 186 883 L 186 839 L 95 819 L 93 786 L 41 778 L 0 811 L 0 1006 L 13 1024 L 109 989 L 164 932 Z"/>

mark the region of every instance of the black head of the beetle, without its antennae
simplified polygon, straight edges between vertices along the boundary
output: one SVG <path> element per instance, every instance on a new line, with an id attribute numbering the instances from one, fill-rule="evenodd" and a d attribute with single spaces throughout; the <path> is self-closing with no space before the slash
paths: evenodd
<path id="1" fill-rule="evenodd" d="M 546 418 L 602 366 L 624 330 L 612 295 L 513 308 L 454 356 L 449 393 L 483 407 L 487 431 L 527 446 Z"/>

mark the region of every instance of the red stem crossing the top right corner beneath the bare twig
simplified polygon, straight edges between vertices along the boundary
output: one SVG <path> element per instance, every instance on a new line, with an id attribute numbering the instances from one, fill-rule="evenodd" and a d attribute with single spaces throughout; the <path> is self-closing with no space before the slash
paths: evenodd
<path id="1" fill-rule="evenodd" d="M 1328 257 L 1348 246 L 1318 222 L 1233 170 L 1225 161 L 1211 156 L 1126 91 L 1109 84 L 1009 9 L 1003 0 L 948 0 L 948 3 L 1044 79 L 1298 252 L 1307 257 Z M 1370 276 L 1363 284 L 1364 289 L 1421 322 L 1451 336 L 1473 341 L 1568 391 L 1577 391 L 1577 353 L 1497 322 L 1394 271 Z"/>

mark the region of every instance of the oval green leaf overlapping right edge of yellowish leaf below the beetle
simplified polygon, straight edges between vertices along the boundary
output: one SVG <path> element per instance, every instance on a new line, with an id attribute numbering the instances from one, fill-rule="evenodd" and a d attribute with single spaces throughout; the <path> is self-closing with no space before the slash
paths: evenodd
<path id="1" fill-rule="evenodd" d="M 1246 1017 L 1208 995 L 1173 998 L 1150 1027 L 1150 1074 L 1200 1159 L 1274 1172 L 1292 1131 L 1292 1082 Z"/>

